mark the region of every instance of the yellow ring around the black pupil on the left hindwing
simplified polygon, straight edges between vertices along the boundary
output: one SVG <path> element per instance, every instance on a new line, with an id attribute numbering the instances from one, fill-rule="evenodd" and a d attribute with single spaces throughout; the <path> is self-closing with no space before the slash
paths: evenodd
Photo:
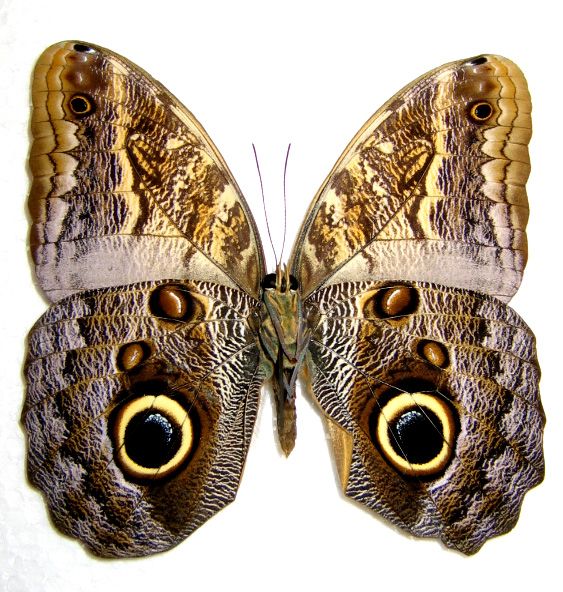
<path id="1" fill-rule="evenodd" d="M 182 430 L 182 439 L 176 454 L 166 464 L 158 468 L 143 467 L 138 464 L 127 454 L 125 447 L 125 431 L 129 422 L 138 413 L 148 410 L 160 411 Z M 139 479 L 161 479 L 175 471 L 190 453 L 193 445 L 193 426 L 186 410 L 174 399 L 166 395 L 146 396 L 131 401 L 119 411 L 115 436 L 117 459 L 130 476 Z"/>

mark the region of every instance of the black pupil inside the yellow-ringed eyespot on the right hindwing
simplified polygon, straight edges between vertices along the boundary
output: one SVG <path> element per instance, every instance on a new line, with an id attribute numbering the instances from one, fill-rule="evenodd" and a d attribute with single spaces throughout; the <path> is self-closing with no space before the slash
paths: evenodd
<path id="1" fill-rule="evenodd" d="M 413 464 L 424 464 L 442 450 L 442 424 L 430 409 L 410 409 L 389 425 L 395 452 Z"/>

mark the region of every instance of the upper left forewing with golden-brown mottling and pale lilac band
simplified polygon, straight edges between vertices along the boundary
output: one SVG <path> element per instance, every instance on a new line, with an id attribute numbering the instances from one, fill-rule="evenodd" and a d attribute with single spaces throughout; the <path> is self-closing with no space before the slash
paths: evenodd
<path id="1" fill-rule="evenodd" d="M 51 301 L 168 278 L 258 296 L 262 247 L 226 164 L 161 84 L 81 42 L 33 76 L 31 250 Z"/>

